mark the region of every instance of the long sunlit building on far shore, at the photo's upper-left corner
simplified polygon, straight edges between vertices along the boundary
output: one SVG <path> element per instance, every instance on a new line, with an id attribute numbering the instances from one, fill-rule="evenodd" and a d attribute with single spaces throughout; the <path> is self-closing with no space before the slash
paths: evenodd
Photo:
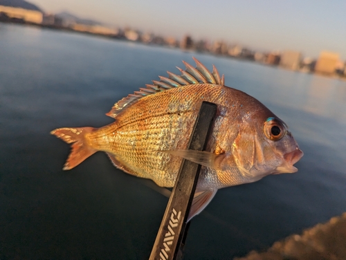
<path id="1" fill-rule="evenodd" d="M 19 19 L 33 24 L 42 24 L 43 14 L 38 10 L 27 10 L 11 6 L 0 6 L 0 13 L 9 19 Z"/>

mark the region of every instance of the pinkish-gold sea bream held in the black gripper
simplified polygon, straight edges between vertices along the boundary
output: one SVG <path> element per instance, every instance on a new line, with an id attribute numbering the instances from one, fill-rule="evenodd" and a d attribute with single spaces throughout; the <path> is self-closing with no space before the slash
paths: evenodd
<path id="1" fill-rule="evenodd" d="M 270 174 L 294 173 L 303 152 L 289 127 L 254 97 L 225 86 L 213 65 L 183 62 L 181 75 L 167 71 L 153 84 L 116 102 L 104 127 L 58 128 L 51 133 L 71 144 L 64 170 L 97 151 L 128 174 L 173 187 L 182 160 L 202 165 L 188 220 L 210 203 L 218 189 L 253 183 Z M 203 101 L 217 105 L 205 151 L 189 150 Z"/>

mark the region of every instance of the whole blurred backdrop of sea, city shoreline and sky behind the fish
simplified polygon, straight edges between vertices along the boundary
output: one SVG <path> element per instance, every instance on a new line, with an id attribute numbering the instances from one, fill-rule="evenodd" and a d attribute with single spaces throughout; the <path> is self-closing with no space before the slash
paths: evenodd
<path id="1" fill-rule="evenodd" d="M 266 250 L 346 211 L 344 1 L 0 0 L 0 259 L 147 259 L 168 198 L 97 153 L 62 171 L 57 127 L 104 113 L 181 60 L 289 125 L 296 174 L 219 190 L 184 259 Z"/>

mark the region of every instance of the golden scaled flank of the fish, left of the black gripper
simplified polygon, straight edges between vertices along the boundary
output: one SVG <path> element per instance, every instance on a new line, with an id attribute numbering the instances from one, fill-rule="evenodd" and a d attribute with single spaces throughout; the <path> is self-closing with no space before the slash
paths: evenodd
<path id="1" fill-rule="evenodd" d="M 196 98 L 200 96 L 198 92 L 201 89 L 203 99 Z M 170 155 L 157 151 L 186 149 L 189 140 L 186 137 L 192 133 L 201 102 L 216 102 L 217 91 L 219 92 L 218 88 L 211 84 L 197 84 L 149 95 L 131 105 L 131 113 L 118 115 L 114 124 L 95 131 L 89 139 L 91 142 L 95 140 L 95 145 L 92 145 L 95 149 L 116 154 L 118 162 L 131 169 L 131 174 L 152 178 L 158 185 L 172 187 L 181 158 L 171 158 Z M 177 102 L 187 96 L 191 100 L 188 106 Z M 147 111 L 152 113 L 148 115 Z M 118 132 L 121 134 L 117 134 Z M 109 135 L 113 133 L 111 144 L 100 142 L 100 136 L 107 136 L 105 139 L 109 139 Z M 170 176 L 170 183 L 167 183 L 167 176 Z"/>

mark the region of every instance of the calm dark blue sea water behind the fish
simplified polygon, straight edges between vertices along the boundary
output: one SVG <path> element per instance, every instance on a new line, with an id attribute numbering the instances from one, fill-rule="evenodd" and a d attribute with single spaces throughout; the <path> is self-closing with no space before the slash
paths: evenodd
<path id="1" fill-rule="evenodd" d="M 0 24 L 0 259 L 147 259 L 167 198 L 98 153 L 62 171 L 57 127 L 101 127 L 114 102 L 192 55 L 266 104 L 304 151 L 297 174 L 221 189 L 185 259 L 264 250 L 346 211 L 346 82 L 249 62 Z"/>

